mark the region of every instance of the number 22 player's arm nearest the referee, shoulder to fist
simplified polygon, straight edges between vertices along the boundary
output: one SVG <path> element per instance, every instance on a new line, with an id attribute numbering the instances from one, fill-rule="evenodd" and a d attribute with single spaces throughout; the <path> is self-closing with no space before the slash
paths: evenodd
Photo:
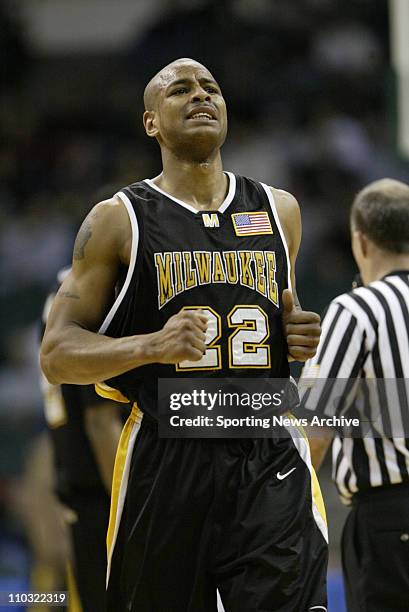
<path id="1" fill-rule="evenodd" d="M 271 188 L 277 213 L 286 238 L 290 265 L 292 290 L 282 294 L 283 326 L 290 360 L 306 361 L 316 353 L 320 339 L 320 316 L 301 308 L 295 282 L 295 263 L 301 243 L 300 207 L 293 195 L 281 189 Z"/>

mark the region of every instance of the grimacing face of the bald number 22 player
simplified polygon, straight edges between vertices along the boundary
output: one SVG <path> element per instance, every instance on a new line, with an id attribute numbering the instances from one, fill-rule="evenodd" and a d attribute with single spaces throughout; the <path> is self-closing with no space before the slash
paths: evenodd
<path id="1" fill-rule="evenodd" d="M 152 124 L 169 148 L 195 144 L 219 148 L 227 133 L 226 104 L 217 82 L 204 66 L 184 63 L 160 82 Z"/>

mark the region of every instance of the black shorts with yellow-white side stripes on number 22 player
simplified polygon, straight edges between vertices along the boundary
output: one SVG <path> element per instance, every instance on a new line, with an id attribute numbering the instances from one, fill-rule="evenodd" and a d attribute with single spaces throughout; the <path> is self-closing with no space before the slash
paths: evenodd
<path id="1" fill-rule="evenodd" d="M 308 442 L 291 433 L 160 439 L 134 409 L 115 465 L 108 612 L 325 612 L 325 510 Z"/>

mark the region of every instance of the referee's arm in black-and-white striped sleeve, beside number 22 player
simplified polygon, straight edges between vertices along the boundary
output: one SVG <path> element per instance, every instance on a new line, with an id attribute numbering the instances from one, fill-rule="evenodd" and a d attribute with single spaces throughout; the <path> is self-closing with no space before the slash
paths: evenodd
<path id="1" fill-rule="evenodd" d="M 345 414 L 350 405 L 346 400 L 347 391 L 359 376 L 366 353 L 366 334 L 357 318 L 337 300 L 331 302 L 321 328 L 317 353 L 306 362 L 301 374 L 300 408 L 303 412 L 339 416 Z M 343 389 L 341 401 L 340 387 Z M 334 433 L 334 428 L 307 428 L 311 459 L 316 470 L 325 458 Z"/>

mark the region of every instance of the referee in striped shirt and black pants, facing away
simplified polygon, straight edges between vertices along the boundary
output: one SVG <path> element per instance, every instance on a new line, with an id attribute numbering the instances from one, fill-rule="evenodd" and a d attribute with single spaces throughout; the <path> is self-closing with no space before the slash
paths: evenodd
<path id="1" fill-rule="evenodd" d="M 360 423 L 358 434 L 331 429 L 333 478 L 352 506 L 342 538 L 348 611 L 407 612 L 409 186 L 383 179 L 363 189 L 351 233 L 363 286 L 331 302 L 303 370 L 301 406 Z M 316 469 L 330 440 L 311 440 Z"/>

